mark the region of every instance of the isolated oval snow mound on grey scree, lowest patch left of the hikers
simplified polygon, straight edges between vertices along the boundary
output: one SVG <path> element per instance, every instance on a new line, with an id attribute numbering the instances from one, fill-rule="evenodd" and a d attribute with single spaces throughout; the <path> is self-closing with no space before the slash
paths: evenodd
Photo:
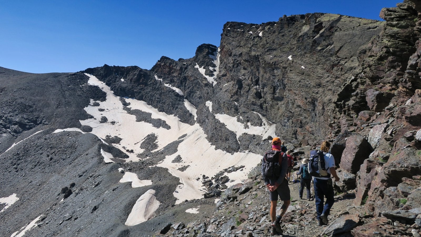
<path id="1" fill-rule="evenodd" d="M 126 226 L 134 226 L 145 222 L 154 216 L 155 211 L 158 209 L 160 202 L 156 200 L 155 190 L 149 189 L 142 194 L 136 201 L 124 223 Z"/>

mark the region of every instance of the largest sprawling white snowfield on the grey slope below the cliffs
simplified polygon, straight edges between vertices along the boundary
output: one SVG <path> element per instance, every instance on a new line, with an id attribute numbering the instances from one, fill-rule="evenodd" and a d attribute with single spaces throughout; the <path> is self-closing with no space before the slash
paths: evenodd
<path id="1" fill-rule="evenodd" d="M 91 133 L 98 137 L 104 138 L 109 135 L 122 138 L 123 140 L 120 141 L 120 144 L 113 145 L 120 148 L 123 152 L 125 152 L 126 149 L 133 149 L 133 153 L 125 152 L 129 156 L 126 161 L 139 160 L 136 156 L 144 150 L 139 148 L 138 143 L 150 133 L 155 133 L 157 136 L 156 144 L 158 147 L 155 151 L 162 149 L 164 146 L 173 141 L 177 141 L 179 137 L 187 134 L 187 136 L 179 139 L 180 144 L 177 151 L 172 155 L 166 156 L 165 159 L 157 165 L 167 168 L 173 176 L 180 179 L 181 185 L 173 192 L 174 197 L 178 199 L 176 203 L 184 202 L 184 200 L 203 198 L 203 186 L 200 180 L 196 180 L 197 177 L 202 176 L 203 174 L 211 177 L 225 168 L 245 165 L 243 170 L 237 170 L 226 174 L 229 179 L 236 184 L 247 178 L 248 172 L 261 160 L 260 154 L 251 152 L 235 152 L 234 154 L 230 154 L 220 149 L 216 149 L 215 146 L 211 145 L 206 140 L 207 135 L 199 124 L 189 125 L 182 123 L 178 117 L 159 112 L 144 101 L 126 99 L 128 103 L 131 103 L 130 106 L 128 106 L 129 108 L 151 113 L 153 119 L 164 120 L 171 129 L 155 128 L 147 122 L 136 122 L 136 117 L 134 115 L 130 115 L 123 110 L 120 97 L 115 96 L 112 91 L 110 91 L 109 87 L 100 82 L 96 77 L 92 75 L 88 76 L 90 77 L 88 83 L 99 85 L 99 87 L 107 93 L 107 100 L 99 102 L 99 107 L 86 107 L 86 112 L 96 118 L 96 120 L 92 118 L 80 121 L 80 123 L 82 125 L 91 126 L 93 128 Z M 210 111 L 212 110 L 211 101 L 208 101 L 206 106 L 209 107 Z M 105 109 L 105 111 L 99 112 L 98 109 Z M 192 109 L 192 107 L 190 109 Z M 194 110 L 191 112 L 194 112 Z M 99 120 L 102 116 L 106 116 L 109 121 L 113 120 L 115 123 L 100 123 Z M 124 149 L 123 146 L 125 146 Z M 178 155 L 183 157 L 184 163 L 171 162 Z M 186 164 L 190 165 L 186 170 L 178 170 Z"/>

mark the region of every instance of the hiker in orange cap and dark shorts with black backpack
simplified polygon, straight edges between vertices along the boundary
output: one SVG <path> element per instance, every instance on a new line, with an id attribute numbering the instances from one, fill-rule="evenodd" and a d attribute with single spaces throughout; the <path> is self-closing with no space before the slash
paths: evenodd
<path id="1" fill-rule="evenodd" d="M 271 154 L 274 154 L 271 156 Z M 272 158 L 272 159 L 271 159 Z M 270 162 L 271 160 L 277 161 L 276 163 Z M 269 168 L 272 165 L 277 167 L 277 175 L 270 175 Z M 277 165 L 277 166 L 276 166 Z M 262 177 L 269 189 L 269 200 L 270 200 L 270 217 L 272 220 L 272 231 L 271 234 L 282 234 L 281 229 L 281 218 L 285 214 L 288 206 L 290 205 L 290 189 L 288 187 L 288 180 L 285 178 L 288 169 L 288 157 L 281 151 L 281 140 L 279 137 L 275 137 L 272 140 L 272 150 L 266 152 L 262 159 Z M 266 175 L 265 175 L 266 173 Z M 278 196 L 282 203 L 281 210 L 276 216 L 276 205 Z"/>

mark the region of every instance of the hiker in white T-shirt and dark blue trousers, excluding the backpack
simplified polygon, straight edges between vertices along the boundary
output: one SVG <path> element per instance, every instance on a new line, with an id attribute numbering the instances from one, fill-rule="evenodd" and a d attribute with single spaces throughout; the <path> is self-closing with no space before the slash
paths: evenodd
<path id="1" fill-rule="evenodd" d="M 333 203 L 335 202 L 333 194 L 333 184 L 330 175 L 335 178 L 335 181 L 339 181 L 339 177 L 336 174 L 335 170 L 335 159 L 333 155 L 328 153 L 330 149 L 330 143 L 328 141 L 323 141 L 320 147 L 320 150 L 324 154 L 325 159 L 325 170 L 328 173 L 328 177 L 316 177 L 314 176 L 314 200 L 316 202 L 316 212 L 317 220 L 319 221 L 318 225 L 327 225 L 329 223 L 328 216 L 330 213 L 330 208 L 332 208 Z M 320 170 L 317 170 L 317 173 L 320 174 Z M 324 203 L 324 198 L 326 197 L 326 202 Z"/>

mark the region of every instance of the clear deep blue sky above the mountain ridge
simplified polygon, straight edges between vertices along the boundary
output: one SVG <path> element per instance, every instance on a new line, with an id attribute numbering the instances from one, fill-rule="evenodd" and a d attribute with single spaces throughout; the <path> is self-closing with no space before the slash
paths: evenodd
<path id="1" fill-rule="evenodd" d="M 381 20 L 399 0 L 0 0 L 0 67 L 77 72 L 104 64 L 150 69 L 161 56 L 191 58 L 219 46 L 227 21 L 338 13 Z"/>

